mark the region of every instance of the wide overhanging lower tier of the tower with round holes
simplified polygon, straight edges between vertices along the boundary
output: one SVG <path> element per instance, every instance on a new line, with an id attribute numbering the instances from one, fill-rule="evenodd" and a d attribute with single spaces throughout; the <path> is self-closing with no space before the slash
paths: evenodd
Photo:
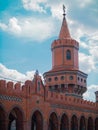
<path id="1" fill-rule="evenodd" d="M 44 79 L 49 91 L 82 97 L 87 90 L 87 74 L 78 70 L 49 71 L 44 74 Z"/>

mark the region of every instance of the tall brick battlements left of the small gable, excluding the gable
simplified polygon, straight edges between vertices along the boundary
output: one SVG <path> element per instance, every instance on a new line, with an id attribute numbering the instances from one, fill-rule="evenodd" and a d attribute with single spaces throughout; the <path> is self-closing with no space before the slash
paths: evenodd
<path id="1" fill-rule="evenodd" d="M 35 83 L 30 80 L 27 80 L 23 85 L 21 85 L 20 82 L 14 83 L 11 81 L 7 82 L 6 80 L 0 80 L 0 95 L 24 97 L 36 93 L 36 90 Z"/>

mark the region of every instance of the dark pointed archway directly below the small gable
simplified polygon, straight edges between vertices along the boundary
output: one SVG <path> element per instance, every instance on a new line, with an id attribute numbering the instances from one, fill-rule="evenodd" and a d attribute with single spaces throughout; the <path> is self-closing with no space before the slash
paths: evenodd
<path id="1" fill-rule="evenodd" d="M 31 117 L 31 130 L 43 130 L 43 115 L 39 110 L 33 111 Z"/>

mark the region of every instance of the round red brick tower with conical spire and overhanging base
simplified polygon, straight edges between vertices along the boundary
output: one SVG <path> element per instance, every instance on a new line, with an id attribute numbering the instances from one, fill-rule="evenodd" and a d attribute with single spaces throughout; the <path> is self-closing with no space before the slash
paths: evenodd
<path id="1" fill-rule="evenodd" d="M 50 91 L 82 98 L 87 90 L 87 74 L 79 70 L 79 43 L 72 39 L 63 14 L 59 38 L 51 45 L 52 70 L 44 73 L 45 84 Z"/>

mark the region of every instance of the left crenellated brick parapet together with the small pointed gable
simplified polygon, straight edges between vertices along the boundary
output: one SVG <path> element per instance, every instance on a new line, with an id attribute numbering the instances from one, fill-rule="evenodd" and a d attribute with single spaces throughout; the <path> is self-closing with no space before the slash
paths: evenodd
<path id="1" fill-rule="evenodd" d="M 32 94 L 44 95 L 44 87 L 41 78 L 20 82 L 0 80 L 0 95 L 29 97 Z"/>

